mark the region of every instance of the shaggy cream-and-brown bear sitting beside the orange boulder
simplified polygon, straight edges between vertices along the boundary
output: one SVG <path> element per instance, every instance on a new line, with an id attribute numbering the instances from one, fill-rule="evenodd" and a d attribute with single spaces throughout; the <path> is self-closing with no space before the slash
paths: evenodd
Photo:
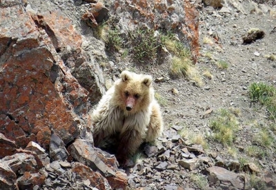
<path id="1" fill-rule="evenodd" d="M 152 76 L 124 70 L 92 112 L 95 147 L 118 136 L 115 157 L 126 166 L 143 142 L 155 142 L 163 132 L 163 118 L 155 99 Z"/>

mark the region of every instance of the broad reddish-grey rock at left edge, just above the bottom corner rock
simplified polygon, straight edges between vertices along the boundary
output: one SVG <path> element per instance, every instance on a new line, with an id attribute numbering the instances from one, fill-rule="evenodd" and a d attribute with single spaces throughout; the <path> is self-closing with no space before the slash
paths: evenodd
<path id="1" fill-rule="evenodd" d="M 37 165 L 32 154 L 17 153 L 12 156 L 6 156 L 1 159 L 1 162 L 6 163 L 14 173 L 23 175 L 26 171 L 31 173 L 37 173 L 41 168 L 41 165 Z"/>

